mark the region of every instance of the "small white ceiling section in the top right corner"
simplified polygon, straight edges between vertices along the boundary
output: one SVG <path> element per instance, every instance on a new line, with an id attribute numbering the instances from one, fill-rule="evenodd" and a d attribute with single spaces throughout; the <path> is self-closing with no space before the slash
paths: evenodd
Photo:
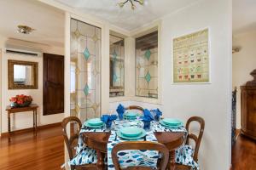
<path id="1" fill-rule="evenodd" d="M 233 34 L 256 31 L 256 1 L 233 0 Z"/>

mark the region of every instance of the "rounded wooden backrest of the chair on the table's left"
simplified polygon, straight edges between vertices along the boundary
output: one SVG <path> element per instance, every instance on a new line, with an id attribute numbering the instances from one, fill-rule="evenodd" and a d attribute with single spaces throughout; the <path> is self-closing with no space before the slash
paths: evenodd
<path id="1" fill-rule="evenodd" d="M 67 125 L 70 125 L 70 137 L 68 137 L 67 134 Z M 78 129 L 77 132 L 75 132 L 75 125 L 77 125 Z M 69 155 L 69 159 L 73 159 L 73 152 L 74 152 L 74 146 L 77 145 L 77 143 L 73 144 L 77 139 L 79 139 L 79 131 L 82 127 L 82 123 L 76 116 L 68 116 L 63 119 L 61 122 L 62 127 L 62 135 L 64 137 L 65 144 L 67 146 L 67 151 Z"/>

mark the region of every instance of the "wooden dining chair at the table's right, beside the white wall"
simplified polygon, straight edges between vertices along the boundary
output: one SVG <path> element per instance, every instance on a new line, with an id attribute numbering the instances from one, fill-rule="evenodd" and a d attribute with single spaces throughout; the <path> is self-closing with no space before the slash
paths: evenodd
<path id="1" fill-rule="evenodd" d="M 199 133 L 195 134 L 195 133 L 190 133 L 189 131 L 189 126 L 191 122 L 198 122 L 200 125 L 200 129 L 199 129 Z M 186 123 L 186 129 L 188 131 L 188 137 L 186 140 L 186 143 L 184 146 L 182 146 L 183 148 L 185 148 L 185 150 L 189 150 L 190 146 L 189 146 L 189 140 L 192 139 L 195 142 L 195 148 L 193 149 L 193 151 L 191 151 L 191 153 L 193 152 L 193 160 L 197 163 L 198 161 L 198 152 L 199 152 L 199 148 L 200 148 L 200 144 L 201 144 L 201 139 L 202 139 L 202 135 L 204 133 L 204 129 L 205 129 L 205 121 L 203 118 L 201 118 L 200 116 L 192 116 L 189 118 L 189 120 Z M 191 169 L 191 166 L 187 166 L 187 165 L 182 165 L 182 164 L 177 164 L 175 165 L 177 170 L 186 170 L 186 169 Z"/>

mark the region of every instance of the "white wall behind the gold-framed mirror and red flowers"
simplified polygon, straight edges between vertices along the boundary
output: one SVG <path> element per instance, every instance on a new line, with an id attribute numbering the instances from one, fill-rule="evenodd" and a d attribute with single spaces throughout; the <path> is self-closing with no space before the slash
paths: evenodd
<path id="1" fill-rule="evenodd" d="M 3 43 L 4 44 L 4 43 Z M 40 45 L 30 42 L 15 42 L 17 45 L 22 45 L 24 47 L 38 48 L 44 53 L 50 54 L 64 54 L 64 48 L 61 47 L 50 47 L 47 45 Z M 4 45 L 5 46 L 5 45 Z M 55 122 L 61 122 L 64 114 L 55 114 L 50 116 L 43 116 L 43 57 L 42 54 L 39 57 L 24 55 L 24 54 L 7 54 L 3 51 L 2 57 L 2 133 L 8 131 L 7 114 L 5 111 L 6 105 L 9 105 L 9 98 L 15 96 L 16 94 L 26 94 L 31 95 L 33 103 L 39 105 L 38 110 L 38 126 L 46 125 Z M 8 59 L 26 60 L 38 62 L 38 89 L 23 89 L 23 90 L 8 90 Z M 32 113 L 17 113 L 12 114 L 11 118 L 11 129 L 18 130 L 22 128 L 32 127 Z"/>

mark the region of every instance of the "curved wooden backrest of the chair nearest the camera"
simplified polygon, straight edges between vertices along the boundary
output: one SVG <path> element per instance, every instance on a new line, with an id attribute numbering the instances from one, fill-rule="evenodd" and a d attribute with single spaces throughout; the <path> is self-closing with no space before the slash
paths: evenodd
<path id="1" fill-rule="evenodd" d="M 160 153 L 162 153 L 160 169 L 166 170 L 166 166 L 169 160 L 169 150 L 164 144 L 148 141 L 128 141 L 114 145 L 111 155 L 113 160 L 113 166 L 116 170 L 121 169 L 119 165 L 119 158 L 117 156 L 120 150 L 158 150 L 160 151 Z M 143 167 L 141 168 L 143 169 Z M 140 167 L 137 167 L 136 169 L 140 169 Z"/>

